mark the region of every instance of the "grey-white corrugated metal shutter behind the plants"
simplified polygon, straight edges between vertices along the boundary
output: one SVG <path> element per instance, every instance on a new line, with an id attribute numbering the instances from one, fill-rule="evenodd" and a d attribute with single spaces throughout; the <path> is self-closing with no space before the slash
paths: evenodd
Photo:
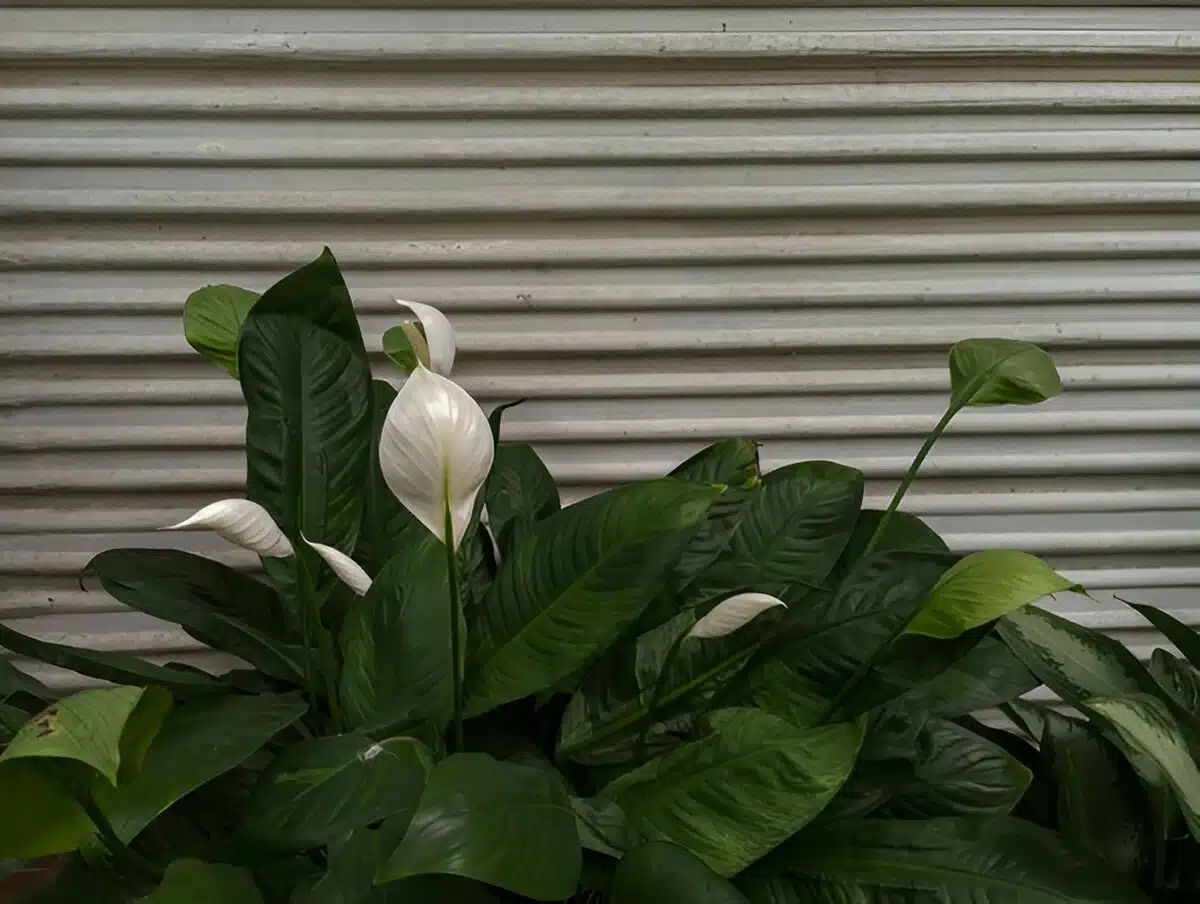
<path id="1" fill-rule="evenodd" d="M 246 563 L 152 533 L 242 480 L 180 306 L 328 243 L 368 343 L 443 306 L 571 493 L 745 435 L 880 504 L 947 346 L 1042 342 L 1070 391 L 962 415 L 908 507 L 1200 621 L 1200 11 L 270 5 L 0 13 L 0 617 L 206 660 L 77 575 Z"/>

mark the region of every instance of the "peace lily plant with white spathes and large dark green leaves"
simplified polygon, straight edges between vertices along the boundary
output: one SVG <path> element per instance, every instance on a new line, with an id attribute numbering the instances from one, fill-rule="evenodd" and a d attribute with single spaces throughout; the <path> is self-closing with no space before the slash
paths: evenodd
<path id="1" fill-rule="evenodd" d="M 53 701 L 0 659 L 0 858 L 78 855 L 37 900 L 1144 900 L 1021 818 L 1031 772 L 971 717 L 1038 684 L 1010 619 L 1082 588 L 900 510 L 955 413 L 1057 395 L 1042 349 L 950 351 L 887 511 L 857 469 L 763 473 L 745 439 L 563 507 L 499 441 L 508 406 L 452 381 L 448 319 L 400 305 L 379 379 L 328 250 L 188 298 L 185 335 L 242 389 L 246 492 L 170 529 L 263 577 L 169 549 L 89 574 L 245 665 L 0 625 L 109 686 Z"/>

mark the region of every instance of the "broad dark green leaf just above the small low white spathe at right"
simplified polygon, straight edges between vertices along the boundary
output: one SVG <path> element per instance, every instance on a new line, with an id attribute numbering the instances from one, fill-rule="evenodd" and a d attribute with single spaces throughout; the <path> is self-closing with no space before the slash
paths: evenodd
<path id="1" fill-rule="evenodd" d="M 863 474 L 828 461 L 767 474 L 742 511 L 727 547 L 696 579 L 698 597 L 755 588 L 782 597 L 818 587 L 850 539 Z"/>

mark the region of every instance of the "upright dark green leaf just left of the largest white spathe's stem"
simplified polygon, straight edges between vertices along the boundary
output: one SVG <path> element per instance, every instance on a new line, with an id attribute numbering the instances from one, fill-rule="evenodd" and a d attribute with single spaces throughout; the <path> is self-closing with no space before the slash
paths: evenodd
<path id="1" fill-rule="evenodd" d="M 426 531 L 384 567 L 342 625 L 341 698 L 352 728 L 449 720 L 450 618 L 445 547 Z"/>

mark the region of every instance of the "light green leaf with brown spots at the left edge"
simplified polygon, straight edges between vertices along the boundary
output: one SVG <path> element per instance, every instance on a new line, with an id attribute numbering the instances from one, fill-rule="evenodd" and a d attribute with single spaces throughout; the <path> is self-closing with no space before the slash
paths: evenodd
<path id="1" fill-rule="evenodd" d="M 0 768 L 23 759 L 71 760 L 115 785 L 121 754 L 128 752 L 136 766 L 169 706 L 170 694 L 162 688 L 82 690 L 30 719 L 0 753 Z M 136 718 L 139 707 L 144 713 Z"/>

